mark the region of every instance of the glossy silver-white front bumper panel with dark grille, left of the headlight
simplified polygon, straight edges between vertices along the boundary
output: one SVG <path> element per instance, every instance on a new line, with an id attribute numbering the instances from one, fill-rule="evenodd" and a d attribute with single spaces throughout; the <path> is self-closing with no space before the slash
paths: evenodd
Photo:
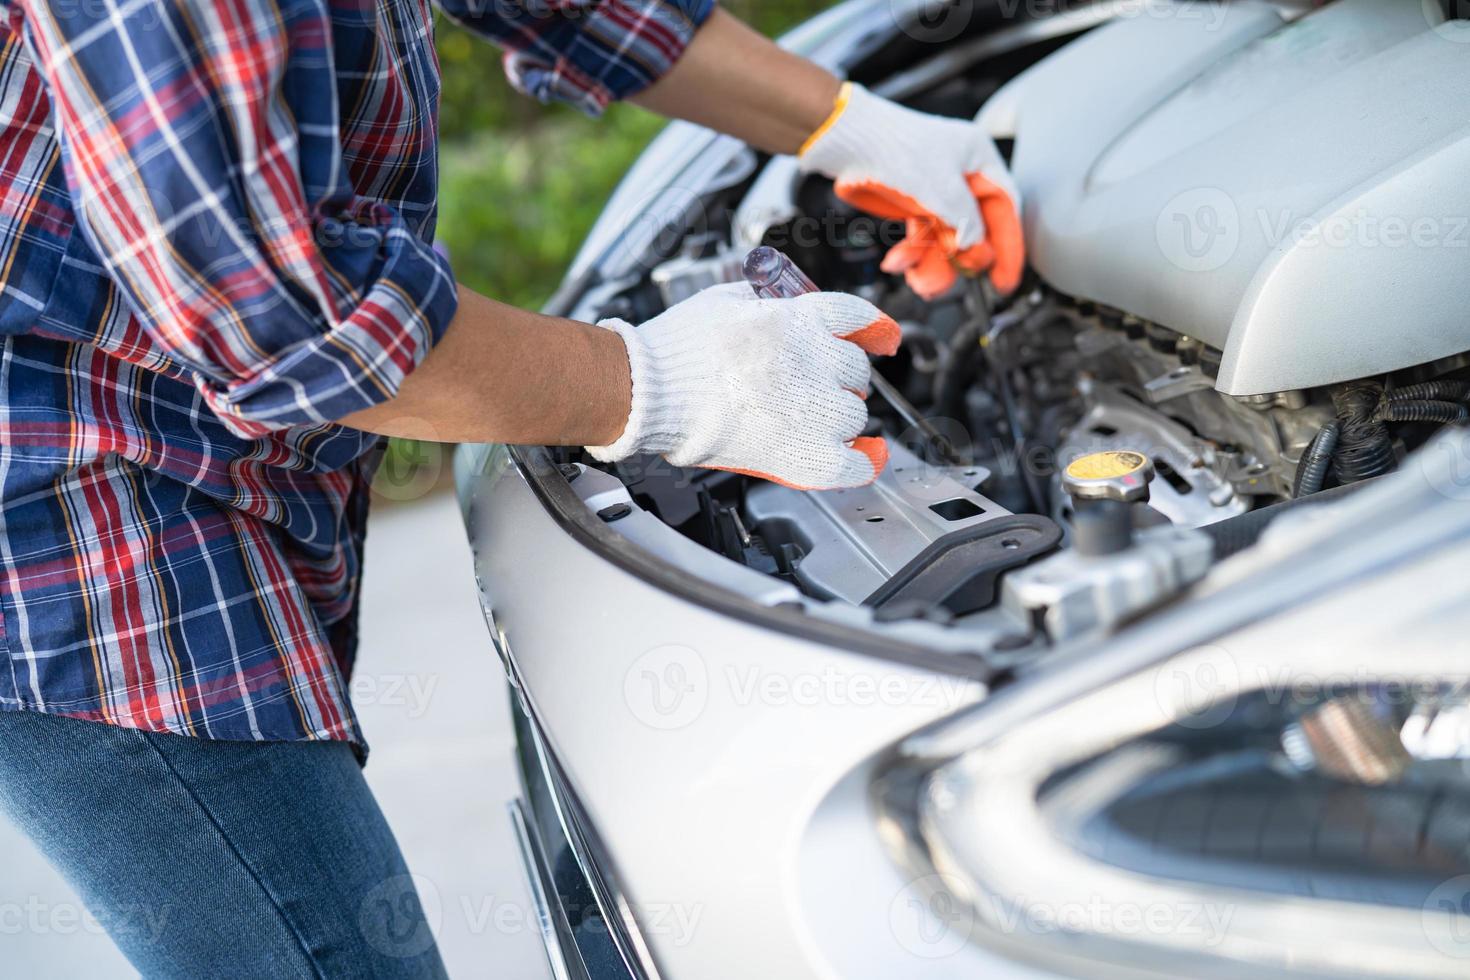
<path id="1" fill-rule="evenodd" d="M 457 469 L 566 976 L 842 976 L 828 951 L 851 951 L 854 929 L 867 961 L 911 973 L 883 924 L 906 883 L 869 770 L 979 698 L 976 663 L 883 660 L 820 642 L 820 623 L 803 636 L 726 614 L 567 533 L 504 447 L 466 447 Z M 623 973 L 591 970 L 609 964 Z"/>

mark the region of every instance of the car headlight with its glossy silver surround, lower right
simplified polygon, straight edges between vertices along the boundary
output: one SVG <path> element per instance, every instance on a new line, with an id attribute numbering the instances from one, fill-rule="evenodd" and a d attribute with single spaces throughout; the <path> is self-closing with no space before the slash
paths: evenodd
<path id="1" fill-rule="evenodd" d="M 1142 636 L 913 739 L 879 795 L 933 918 L 1089 977 L 1467 976 L 1466 458 L 1430 445 Z M 1169 630 L 1201 639 L 1160 654 Z"/>

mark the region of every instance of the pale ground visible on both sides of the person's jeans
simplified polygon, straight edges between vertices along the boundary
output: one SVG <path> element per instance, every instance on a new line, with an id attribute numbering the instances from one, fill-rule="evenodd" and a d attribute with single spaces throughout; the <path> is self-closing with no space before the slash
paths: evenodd
<path id="1" fill-rule="evenodd" d="M 368 782 L 438 918 L 450 976 L 544 977 L 504 811 L 516 793 L 504 683 L 453 495 L 379 505 L 366 567 L 353 695 Z M 79 976 L 137 973 L 0 817 L 0 980 Z"/>

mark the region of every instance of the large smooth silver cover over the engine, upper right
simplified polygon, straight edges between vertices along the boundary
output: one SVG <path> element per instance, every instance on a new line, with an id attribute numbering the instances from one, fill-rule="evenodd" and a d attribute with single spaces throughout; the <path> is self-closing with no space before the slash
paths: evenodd
<path id="1" fill-rule="evenodd" d="M 1232 395 L 1470 348 L 1470 25 L 1132 7 L 980 113 L 1016 140 L 1042 278 L 1222 350 Z"/>

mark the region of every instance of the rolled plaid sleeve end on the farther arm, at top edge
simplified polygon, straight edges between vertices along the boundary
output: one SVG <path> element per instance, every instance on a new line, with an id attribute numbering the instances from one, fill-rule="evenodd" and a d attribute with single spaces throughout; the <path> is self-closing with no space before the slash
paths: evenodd
<path id="1" fill-rule="evenodd" d="M 437 0 L 506 50 L 512 85 L 588 115 L 659 81 L 714 0 Z"/>

